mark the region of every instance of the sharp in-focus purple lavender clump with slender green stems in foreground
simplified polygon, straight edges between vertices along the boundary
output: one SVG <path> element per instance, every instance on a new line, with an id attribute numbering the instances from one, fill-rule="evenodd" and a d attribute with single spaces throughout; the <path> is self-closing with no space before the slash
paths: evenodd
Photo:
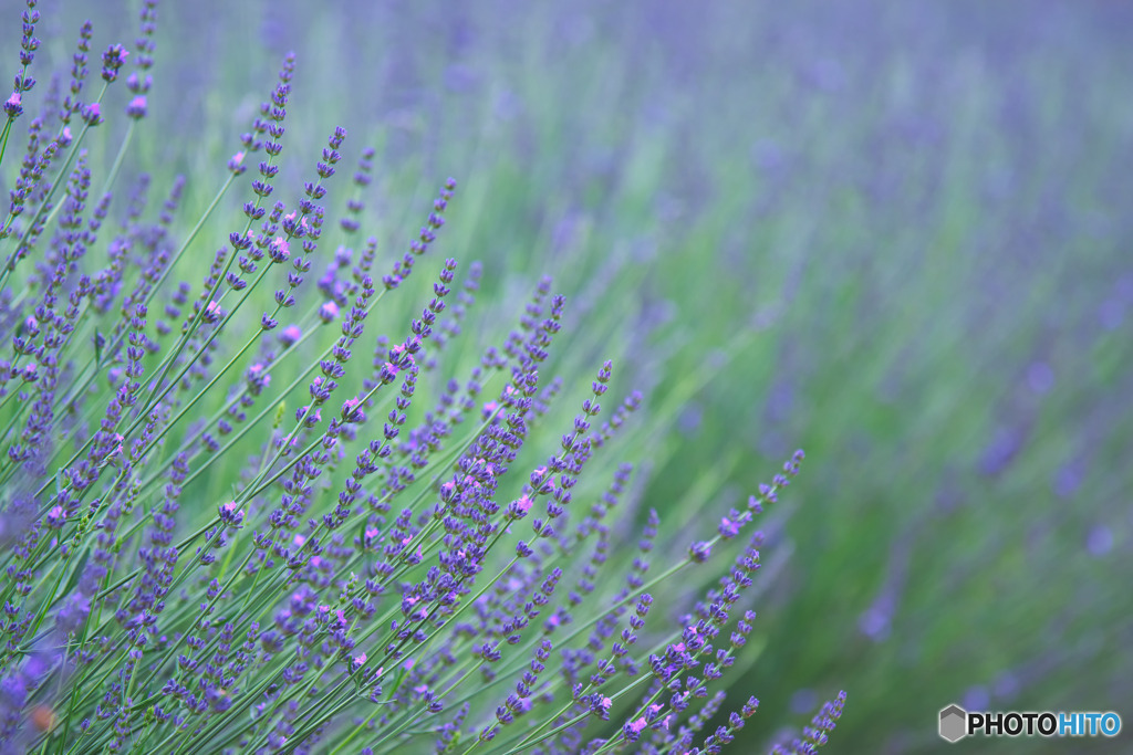
<path id="1" fill-rule="evenodd" d="M 758 706 L 717 717 L 753 627 L 742 597 L 763 534 L 744 530 L 802 453 L 659 574 L 656 512 L 622 559 L 612 512 L 632 467 L 615 464 L 604 491 L 580 484 L 641 402 L 631 393 L 599 421 L 612 362 L 556 453 L 520 461 L 562 389 L 545 378 L 565 307 L 550 280 L 432 397 L 419 388 L 441 383 L 423 378 L 441 375 L 480 268 L 458 284 L 444 260 L 400 337 L 367 328 L 436 241 L 454 181 L 387 266 L 359 235 L 373 149 L 326 225 L 344 129 L 303 195 L 276 199 L 288 57 L 191 232 L 174 230 L 186 180 L 147 220 L 145 175 L 114 229 L 121 157 L 147 117 L 156 0 L 129 49 L 102 53 L 96 91 L 87 23 L 69 78 L 33 105 L 35 6 L 0 137 L 2 160 L 26 129 L 0 225 L 3 748 L 597 755 L 732 741 Z M 83 145 L 122 75 L 128 130 L 92 197 Z M 249 168 L 245 221 L 194 278 L 187 252 L 215 234 L 214 209 Z M 342 240 L 331 254 L 324 231 Z M 206 474 L 231 474 L 231 495 L 205 499 Z M 675 625 L 657 616 L 678 574 L 741 537 L 717 586 Z M 776 752 L 824 744 L 843 698 Z"/>

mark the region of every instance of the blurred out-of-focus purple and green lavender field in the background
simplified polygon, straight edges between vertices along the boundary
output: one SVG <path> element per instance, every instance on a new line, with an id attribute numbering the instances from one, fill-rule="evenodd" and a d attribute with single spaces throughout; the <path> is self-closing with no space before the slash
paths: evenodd
<path id="1" fill-rule="evenodd" d="M 40 9 L 45 67 L 136 15 Z M 621 357 L 663 530 L 806 448 L 730 695 L 750 747 L 840 688 L 830 753 L 943 749 L 949 703 L 1133 717 L 1133 6 L 170 2 L 127 173 L 185 173 L 198 216 L 288 50 L 292 144 L 376 144 L 381 228 L 457 177 L 444 254 L 489 319 L 551 273 L 554 369 Z"/>

